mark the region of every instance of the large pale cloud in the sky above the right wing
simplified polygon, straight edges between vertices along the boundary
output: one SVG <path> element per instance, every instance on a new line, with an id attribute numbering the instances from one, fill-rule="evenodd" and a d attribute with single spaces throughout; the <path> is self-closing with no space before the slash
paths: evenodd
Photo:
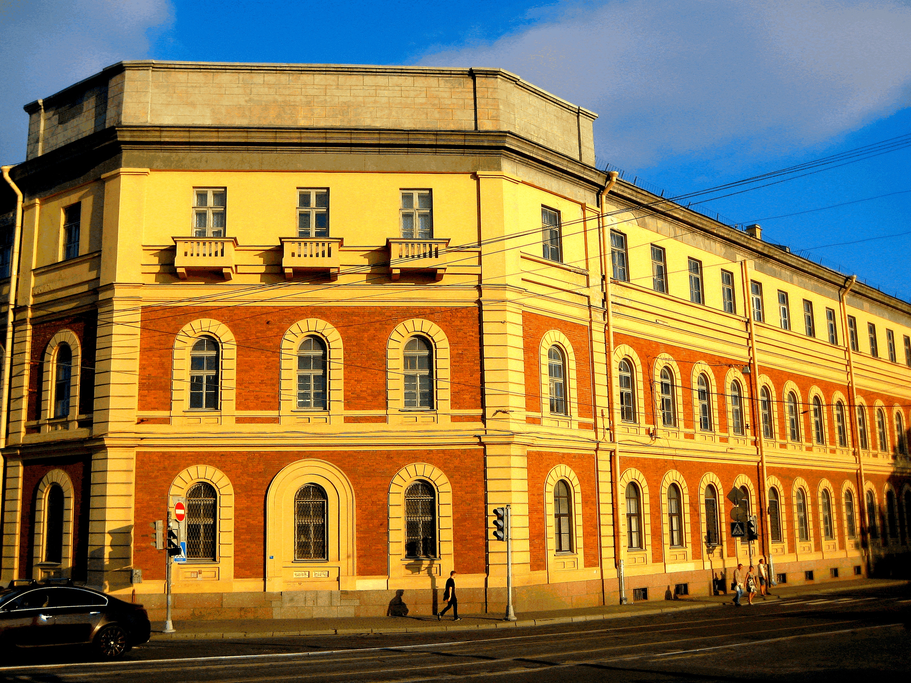
<path id="1" fill-rule="evenodd" d="M 632 167 L 737 142 L 799 148 L 911 104 L 906 0 L 614 0 L 420 63 L 499 66 L 600 114 Z"/>

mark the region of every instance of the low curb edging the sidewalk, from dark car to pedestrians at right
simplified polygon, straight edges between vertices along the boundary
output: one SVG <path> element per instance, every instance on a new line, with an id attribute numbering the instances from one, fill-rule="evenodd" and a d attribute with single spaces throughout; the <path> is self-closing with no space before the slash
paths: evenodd
<path id="1" fill-rule="evenodd" d="M 527 628 L 552 626 L 554 624 L 572 624 L 581 621 L 603 621 L 627 617 L 646 617 L 669 612 L 681 612 L 689 609 L 721 607 L 722 603 L 699 603 L 677 607 L 655 607 L 638 612 L 608 612 L 604 614 L 579 615 L 578 617 L 550 617 L 544 619 L 519 619 L 517 621 L 495 621 L 489 624 L 466 626 L 431 626 L 431 627 L 390 627 L 390 628 L 323 628 L 303 631 L 225 631 L 218 633 L 152 633 L 151 640 L 220 640 L 223 638 L 263 638 L 292 636 L 366 636 L 370 634 L 394 633 L 445 633 L 446 631 L 468 631 L 492 628 Z M 468 617 L 470 618 L 470 617 Z"/>

